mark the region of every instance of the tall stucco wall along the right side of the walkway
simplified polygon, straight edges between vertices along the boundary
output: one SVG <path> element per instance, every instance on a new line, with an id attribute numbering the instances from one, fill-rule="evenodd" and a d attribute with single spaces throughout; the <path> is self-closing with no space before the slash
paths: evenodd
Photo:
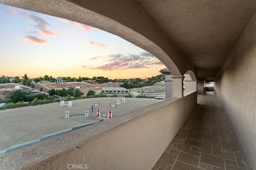
<path id="1" fill-rule="evenodd" d="M 216 76 L 216 96 L 252 167 L 256 169 L 256 16 Z"/>

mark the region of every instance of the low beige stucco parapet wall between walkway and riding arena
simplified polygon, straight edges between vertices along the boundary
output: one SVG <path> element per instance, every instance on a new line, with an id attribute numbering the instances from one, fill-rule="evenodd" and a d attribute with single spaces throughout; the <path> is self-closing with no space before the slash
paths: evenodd
<path id="1" fill-rule="evenodd" d="M 196 104 L 196 92 L 170 98 L 0 155 L 0 164 L 4 169 L 26 166 L 28 170 L 68 169 L 68 164 L 88 169 L 148 170 Z"/>

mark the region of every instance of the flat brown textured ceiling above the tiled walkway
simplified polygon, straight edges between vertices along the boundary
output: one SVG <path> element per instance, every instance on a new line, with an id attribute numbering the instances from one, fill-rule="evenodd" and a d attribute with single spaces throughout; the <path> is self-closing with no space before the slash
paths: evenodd
<path id="1" fill-rule="evenodd" d="M 215 77 L 256 11 L 255 0 L 134 0 L 198 69 Z"/>

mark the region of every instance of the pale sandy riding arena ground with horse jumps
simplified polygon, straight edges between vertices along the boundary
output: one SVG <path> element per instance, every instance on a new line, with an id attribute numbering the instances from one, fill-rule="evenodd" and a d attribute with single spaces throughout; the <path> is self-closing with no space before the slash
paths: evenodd
<path id="1" fill-rule="evenodd" d="M 2 110 L 0 111 L 0 150 L 40 139 L 44 135 L 69 129 L 74 125 L 106 119 L 106 117 L 96 117 L 96 110 L 91 113 L 93 103 L 96 105 L 100 102 L 100 105 L 95 106 L 95 109 L 100 109 L 101 114 L 108 114 L 110 110 L 112 117 L 115 117 L 162 101 L 125 98 L 126 103 L 118 104 L 117 107 L 110 107 L 110 103 L 115 104 L 116 99 L 122 101 L 122 98 L 90 98 L 72 100 L 73 107 L 52 103 Z M 68 102 L 66 101 L 65 104 Z M 66 111 L 70 111 L 70 114 L 81 114 L 85 113 L 85 110 L 89 110 L 89 117 L 65 118 Z"/>

